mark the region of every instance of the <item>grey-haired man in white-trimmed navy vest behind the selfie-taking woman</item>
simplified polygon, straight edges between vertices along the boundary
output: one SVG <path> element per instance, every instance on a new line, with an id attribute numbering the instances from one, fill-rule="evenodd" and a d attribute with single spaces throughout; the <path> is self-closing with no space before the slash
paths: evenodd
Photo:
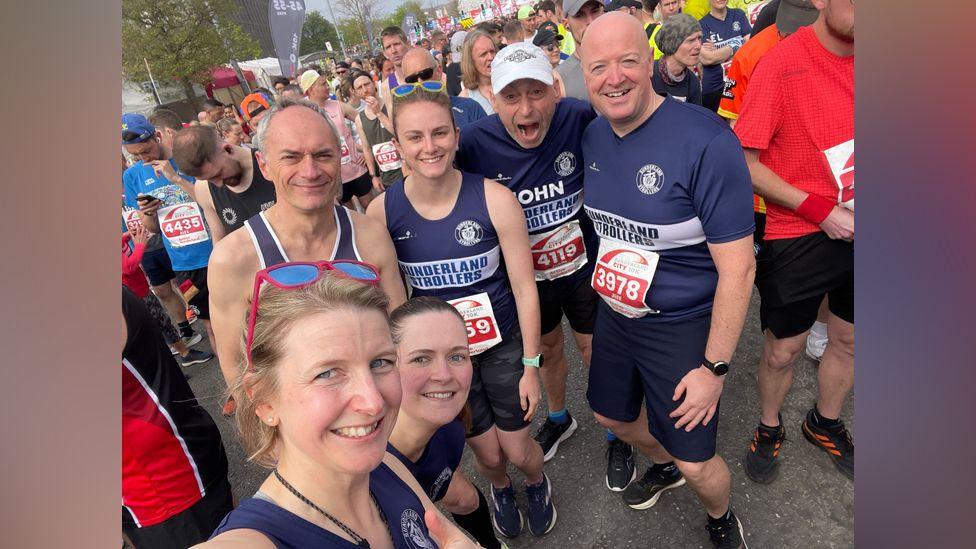
<path id="1" fill-rule="evenodd" d="M 335 204 L 340 139 L 328 114 L 308 101 L 282 100 L 261 120 L 255 143 L 277 202 L 221 240 L 210 260 L 215 350 L 228 386 L 240 373 L 242 320 L 261 269 L 286 261 L 365 261 L 379 269 L 391 308 L 406 300 L 386 228 Z"/>

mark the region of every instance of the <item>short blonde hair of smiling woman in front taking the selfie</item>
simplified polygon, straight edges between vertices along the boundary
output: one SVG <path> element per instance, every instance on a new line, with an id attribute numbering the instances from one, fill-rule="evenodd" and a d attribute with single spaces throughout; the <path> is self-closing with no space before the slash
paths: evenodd
<path id="1" fill-rule="evenodd" d="M 250 368 L 240 368 L 232 390 L 237 401 L 237 428 L 249 461 L 266 467 L 274 467 L 277 462 L 278 429 L 262 422 L 255 410 L 258 405 L 270 402 L 279 391 L 277 366 L 285 354 L 284 338 L 291 327 L 312 315 L 351 309 L 376 311 L 389 322 L 388 305 L 386 294 L 378 287 L 328 273 L 301 289 L 282 290 L 264 285 L 254 324 Z M 246 337 L 245 327 L 241 337 L 242 356 L 247 356 Z"/>

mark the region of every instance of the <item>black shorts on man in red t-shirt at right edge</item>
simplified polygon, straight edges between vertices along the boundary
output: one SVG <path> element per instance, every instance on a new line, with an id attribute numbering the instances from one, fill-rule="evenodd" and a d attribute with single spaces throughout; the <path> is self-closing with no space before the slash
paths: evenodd
<path id="1" fill-rule="evenodd" d="M 756 259 L 763 331 L 800 335 L 817 320 L 824 296 L 830 312 L 854 322 L 854 244 L 816 232 L 766 240 Z"/>

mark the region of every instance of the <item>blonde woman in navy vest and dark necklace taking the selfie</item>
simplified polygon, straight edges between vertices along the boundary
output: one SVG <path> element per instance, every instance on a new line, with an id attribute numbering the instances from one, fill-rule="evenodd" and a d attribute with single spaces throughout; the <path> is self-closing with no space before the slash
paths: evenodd
<path id="1" fill-rule="evenodd" d="M 204 545 L 474 547 L 386 453 L 401 395 L 386 296 L 320 276 L 263 284 L 236 417 L 249 459 L 274 470 Z"/>

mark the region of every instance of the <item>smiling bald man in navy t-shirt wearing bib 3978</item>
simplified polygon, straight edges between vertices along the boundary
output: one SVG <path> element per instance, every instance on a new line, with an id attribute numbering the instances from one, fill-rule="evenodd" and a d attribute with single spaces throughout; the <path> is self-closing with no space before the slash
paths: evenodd
<path id="1" fill-rule="evenodd" d="M 715 114 L 654 93 L 640 24 L 622 13 L 586 33 L 583 75 L 604 117 L 583 134 L 584 204 L 600 238 L 602 298 L 587 399 L 653 465 L 623 491 L 647 509 L 689 484 L 712 544 L 746 547 L 715 453 L 719 399 L 752 293 L 752 185 Z"/>

